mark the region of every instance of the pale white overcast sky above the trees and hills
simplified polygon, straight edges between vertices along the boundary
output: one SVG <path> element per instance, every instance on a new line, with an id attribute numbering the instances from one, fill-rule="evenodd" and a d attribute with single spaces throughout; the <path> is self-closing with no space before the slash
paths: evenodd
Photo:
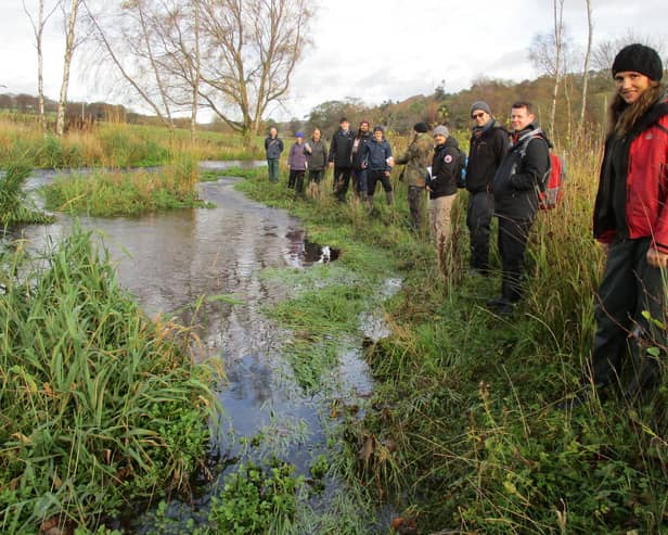
<path id="1" fill-rule="evenodd" d="M 37 0 L 0 0 L 0 92 L 37 94 L 35 37 L 24 2 L 36 12 Z M 667 35 L 668 0 L 591 3 L 594 44 L 629 30 L 658 40 Z M 318 104 L 348 97 L 373 105 L 431 94 L 441 80 L 446 91 L 455 92 L 480 76 L 534 78 L 531 39 L 553 27 L 552 0 L 313 0 L 311 5 L 312 42 L 295 71 L 288 98 L 269 111 L 279 120 L 303 118 Z M 564 23 L 573 43 L 583 50 L 584 0 L 565 0 Z M 44 92 L 54 100 L 63 53 L 63 26 L 54 16 L 44 36 Z M 105 100 L 97 87 L 75 56 L 69 100 Z"/>

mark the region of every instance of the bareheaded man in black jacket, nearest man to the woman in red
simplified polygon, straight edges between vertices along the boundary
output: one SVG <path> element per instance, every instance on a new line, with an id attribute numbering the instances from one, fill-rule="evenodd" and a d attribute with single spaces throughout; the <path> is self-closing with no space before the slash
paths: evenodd
<path id="1" fill-rule="evenodd" d="M 511 109 L 512 145 L 493 178 L 494 214 L 499 218 L 502 264 L 501 296 L 487 302 L 499 314 L 510 314 L 522 297 L 521 279 L 529 230 L 538 209 L 539 183 L 550 169 L 549 141 L 535 124 L 531 104 Z"/>

